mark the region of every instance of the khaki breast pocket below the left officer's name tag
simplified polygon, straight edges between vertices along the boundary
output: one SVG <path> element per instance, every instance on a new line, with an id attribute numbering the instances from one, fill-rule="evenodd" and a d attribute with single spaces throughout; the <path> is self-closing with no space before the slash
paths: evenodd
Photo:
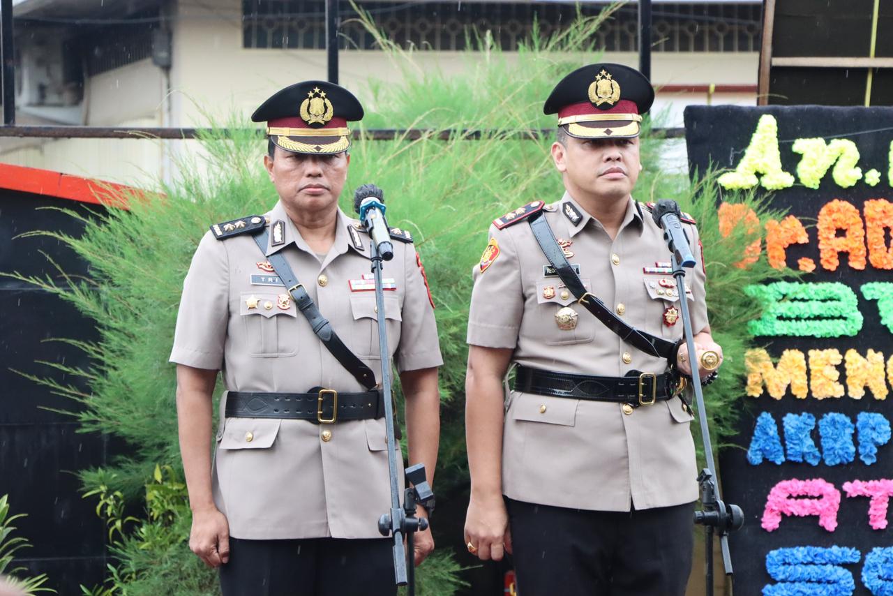
<path id="1" fill-rule="evenodd" d="M 297 354 L 300 346 L 297 308 L 284 288 L 278 294 L 242 292 L 239 309 L 249 356 L 274 358 Z"/>

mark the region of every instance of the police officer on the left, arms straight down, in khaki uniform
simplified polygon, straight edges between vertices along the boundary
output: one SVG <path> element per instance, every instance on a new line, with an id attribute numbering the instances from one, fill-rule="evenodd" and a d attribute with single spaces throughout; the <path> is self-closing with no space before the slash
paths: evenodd
<path id="1" fill-rule="evenodd" d="M 183 284 L 171 362 L 189 545 L 221 567 L 226 596 L 396 593 L 392 541 L 377 525 L 390 497 L 370 238 L 338 208 L 347 122 L 362 117 L 353 95 L 324 81 L 264 102 L 252 118 L 267 122 L 264 164 L 280 200 L 214 224 Z M 391 236 L 388 347 L 409 459 L 431 482 L 442 364 L 433 303 L 410 234 Z M 218 371 L 227 391 L 212 463 Z M 415 544 L 419 563 L 434 548 L 430 531 Z"/>

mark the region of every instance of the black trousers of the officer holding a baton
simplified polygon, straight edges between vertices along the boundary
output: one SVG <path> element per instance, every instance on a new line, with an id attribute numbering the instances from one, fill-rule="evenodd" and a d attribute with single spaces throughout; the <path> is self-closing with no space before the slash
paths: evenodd
<path id="1" fill-rule="evenodd" d="M 518 596 L 684 596 L 694 503 L 625 512 L 506 504 Z"/>

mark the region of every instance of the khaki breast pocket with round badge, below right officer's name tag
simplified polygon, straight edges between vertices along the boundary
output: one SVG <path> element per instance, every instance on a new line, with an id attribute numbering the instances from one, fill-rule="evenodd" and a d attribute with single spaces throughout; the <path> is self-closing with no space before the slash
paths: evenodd
<path id="1" fill-rule="evenodd" d="M 580 280 L 592 291 L 589 280 Z M 596 317 L 574 298 L 571 290 L 555 278 L 537 283 L 539 316 L 535 333 L 549 346 L 588 343 L 596 337 Z"/>

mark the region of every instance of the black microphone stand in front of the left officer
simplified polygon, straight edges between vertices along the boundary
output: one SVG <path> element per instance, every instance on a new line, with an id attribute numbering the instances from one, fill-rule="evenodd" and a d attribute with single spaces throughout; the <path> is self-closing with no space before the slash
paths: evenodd
<path id="1" fill-rule="evenodd" d="M 408 596 L 415 595 L 415 565 L 413 536 L 417 531 L 428 529 L 428 520 L 415 516 L 416 504 L 434 498 L 430 486 L 425 482 L 425 466 L 418 464 L 406 469 L 407 487 L 404 507 L 400 507 L 400 492 L 397 489 L 396 438 L 394 433 L 394 406 L 391 401 L 390 357 L 388 354 L 388 329 L 385 319 L 384 287 L 381 283 L 383 259 L 375 242 L 371 245 L 371 267 L 375 274 L 375 305 L 379 322 L 379 349 L 381 353 L 381 397 L 385 406 L 385 428 L 388 432 L 388 471 L 390 476 L 390 512 L 379 518 L 379 532 L 382 536 L 394 537 L 394 580 L 397 585 L 405 585 Z M 406 544 L 404 547 L 404 536 Z"/>

